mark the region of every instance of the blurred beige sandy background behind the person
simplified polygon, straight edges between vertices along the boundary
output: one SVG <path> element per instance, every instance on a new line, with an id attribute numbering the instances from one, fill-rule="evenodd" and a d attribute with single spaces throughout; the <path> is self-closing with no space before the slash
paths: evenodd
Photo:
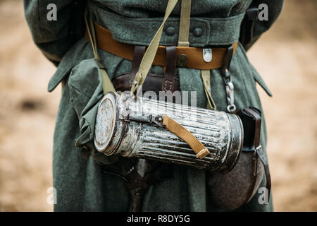
<path id="1" fill-rule="evenodd" d="M 276 211 L 317 211 L 317 1 L 286 0 L 248 52 L 261 88 Z M 53 133 L 61 88 L 32 42 L 22 0 L 0 0 L 0 211 L 51 211 Z"/>

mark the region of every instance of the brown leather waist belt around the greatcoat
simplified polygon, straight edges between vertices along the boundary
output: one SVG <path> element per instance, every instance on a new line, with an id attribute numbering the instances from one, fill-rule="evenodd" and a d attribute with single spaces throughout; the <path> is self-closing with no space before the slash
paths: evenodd
<path id="1" fill-rule="evenodd" d="M 132 61 L 135 49 L 134 44 L 118 42 L 113 39 L 109 30 L 101 27 L 97 23 L 94 23 L 94 25 L 96 31 L 96 40 L 100 49 L 118 57 Z M 85 33 L 85 37 L 88 41 L 90 41 L 87 31 Z M 237 42 L 232 44 L 232 47 L 235 52 L 237 49 Z M 223 66 L 226 51 L 226 48 L 211 48 L 212 59 L 211 61 L 206 62 L 203 58 L 203 48 L 176 47 L 177 65 L 200 70 L 218 69 Z M 166 47 L 159 46 L 153 65 L 166 66 Z"/>

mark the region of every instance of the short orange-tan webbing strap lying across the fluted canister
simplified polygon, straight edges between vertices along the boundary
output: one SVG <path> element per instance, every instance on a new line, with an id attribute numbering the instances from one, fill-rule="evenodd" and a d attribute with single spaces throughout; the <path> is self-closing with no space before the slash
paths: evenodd
<path id="1" fill-rule="evenodd" d="M 174 133 L 179 138 L 182 138 L 183 141 L 188 143 L 190 148 L 196 153 L 196 157 L 202 159 L 209 154 L 209 150 L 187 129 L 178 124 L 177 121 L 170 119 L 167 115 L 163 116 L 163 126 L 166 127 L 170 132 Z"/>

